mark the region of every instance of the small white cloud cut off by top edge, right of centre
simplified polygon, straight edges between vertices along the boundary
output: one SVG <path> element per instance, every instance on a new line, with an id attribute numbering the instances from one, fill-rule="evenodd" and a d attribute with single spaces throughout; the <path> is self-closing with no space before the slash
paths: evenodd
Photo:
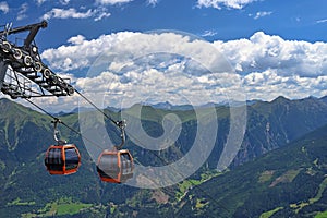
<path id="1" fill-rule="evenodd" d="M 221 9 L 225 5 L 230 9 L 243 9 L 245 5 L 258 0 L 197 0 L 199 8 L 215 8 Z"/>

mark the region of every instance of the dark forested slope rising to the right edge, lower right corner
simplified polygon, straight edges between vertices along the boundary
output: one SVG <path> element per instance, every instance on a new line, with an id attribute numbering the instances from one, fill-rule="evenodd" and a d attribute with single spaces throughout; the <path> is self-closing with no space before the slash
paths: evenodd
<path id="1" fill-rule="evenodd" d="M 327 126 L 187 193 L 181 216 L 325 217 Z M 209 196 L 209 197 L 208 197 Z M 197 201 L 202 201 L 198 207 Z M 191 210 L 190 210 L 191 209 Z M 325 216 L 324 216 L 325 214 Z"/>

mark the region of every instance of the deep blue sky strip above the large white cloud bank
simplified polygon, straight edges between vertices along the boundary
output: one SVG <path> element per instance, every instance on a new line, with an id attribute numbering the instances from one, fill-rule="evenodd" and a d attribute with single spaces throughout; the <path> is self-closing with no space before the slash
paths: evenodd
<path id="1" fill-rule="evenodd" d="M 196 0 L 17 0 L 2 1 L 0 11 L 3 24 L 24 25 L 47 17 L 49 28 L 43 33 L 47 38 L 40 40 L 43 48 L 59 46 L 77 34 L 95 38 L 121 31 L 152 29 L 211 34 L 205 37 L 208 40 L 249 38 L 257 31 L 284 39 L 326 40 L 327 2 L 324 0 L 240 0 L 249 2 L 240 8 L 228 4 L 238 0 L 216 2 L 220 1 L 217 9 L 215 3 L 199 4 Z"/>

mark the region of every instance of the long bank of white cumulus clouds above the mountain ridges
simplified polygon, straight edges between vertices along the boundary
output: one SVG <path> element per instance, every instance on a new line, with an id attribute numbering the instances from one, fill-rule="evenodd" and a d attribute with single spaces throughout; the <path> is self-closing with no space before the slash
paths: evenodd
<path id="1" fill-rule="evenodd" d="M 250 38 L 214 43 L 177 33 L 132 32 L 92 40 L 78 35 L 68 43 L 44 51 L 41 57 L 60 72 L 87 71 L 83 78 L 76 74 L 75 86 L 94 95 L 94 99 L 107 99 L 105 105 L 217 102 L 226 94 L 240 93 L 239 83 L 250 99 L 327 94 L 326 43 L 286 40 L 263 32 Z M 170 52 L 162 52 L 167 50 Z M 222 53 L 235 73 L 223 61 L 217 62 L 223 57 L 213 59 L 215 52 Z M 219 70 L 209 71 L 206 66 L 210 64 Z M 210 69 L 215 69 L 213 65 Z"/>

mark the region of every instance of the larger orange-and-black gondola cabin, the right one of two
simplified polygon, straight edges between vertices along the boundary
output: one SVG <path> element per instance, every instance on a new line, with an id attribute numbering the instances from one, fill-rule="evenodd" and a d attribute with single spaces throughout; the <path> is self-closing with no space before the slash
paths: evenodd
<path id="1" fill-rule="evenodd" d="M 104 150 L 97 162 L 98 174 L 104 182 L 124 183 L 133 178 L 134 162 L 129 150 Z"/>

